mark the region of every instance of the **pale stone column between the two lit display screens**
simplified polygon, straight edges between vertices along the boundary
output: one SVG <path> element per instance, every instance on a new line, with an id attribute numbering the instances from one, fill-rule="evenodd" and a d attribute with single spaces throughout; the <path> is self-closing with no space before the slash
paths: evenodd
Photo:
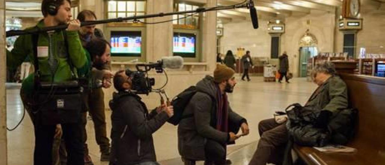
<path id="1" fill-rule="evenodd" d="M 173 12 L 172 0 L 147 0 L 146 14 Z M 146 19 L 146 22 L 160 22 L 171 20 L 172 16 L 154 17 Z M 147 24 L 147 62 L 155 62 L 163 56 L 172 56 L 172 22 L 162 24 Z"/>

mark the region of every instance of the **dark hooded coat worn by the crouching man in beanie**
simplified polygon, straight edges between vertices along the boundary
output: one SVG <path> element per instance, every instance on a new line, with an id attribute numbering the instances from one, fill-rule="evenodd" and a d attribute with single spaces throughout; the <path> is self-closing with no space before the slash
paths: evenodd
<path id="1" fill-rule="evenodd" d="M 196 88 L 199 92 L 192 96 L 183 113 L 184 116 L 189 114 L 193 116 L 181 120 L 178 126 L 178 149 L 183 158 L 204 160 L 204 146 L 207 139 L 226 145 L 229 134 L 216 130 L 217 88 L 214 78 L 206 76 L 196 84 Z M 246 119 L 235 113 L 230 105 L 228 116 L 229 131 L 234 133 L 237 132 L 236 128 L 239 129 L 239 126 L 246 122 Z"/>

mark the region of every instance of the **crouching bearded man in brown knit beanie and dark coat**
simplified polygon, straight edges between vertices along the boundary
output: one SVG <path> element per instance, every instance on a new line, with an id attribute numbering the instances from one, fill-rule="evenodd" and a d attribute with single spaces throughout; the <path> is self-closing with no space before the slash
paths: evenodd
<path id="1" fill-rule="evenodd" d="M 236 80 L 234 70 L 217 64 L 213 76 L 196 84 L 198 92 L 184 109 L 178 125 L 178 150 L 184 165 L 226 165 L 226 145 L 249 134 L 245 118 L 235 113 L 228 102 Z M 241 128 L 242 133 L 238 133 Z"/>

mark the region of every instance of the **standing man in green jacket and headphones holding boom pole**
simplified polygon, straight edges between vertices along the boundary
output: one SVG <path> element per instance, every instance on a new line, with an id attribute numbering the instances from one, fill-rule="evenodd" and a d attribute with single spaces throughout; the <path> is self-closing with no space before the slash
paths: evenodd
<path id="1" fill-rule="evenodd" d="M 27 56 L 36 65 L 34 59 L 37 56 L 40 81 L 62 83 L 71 80 L 73 78 L 71 64 L 76 68 L 83 67 L 86 63 L 86 56 L 78 35 L 80 21 L 71 20 L 70 5 L 70 0 L 43 0 L 41 9 L 44 19 L 40 20 L 35 27 L 28 29 L 61 24 L 68 24 L 68 28 L 50 33 L 42 32 L 37 35 L 36 42 L 33 40 L 34 35 L 18 37 L 14 49 L 11 52 L 7 51 L 7 66 L 10 68 L 19 66 Z M 30 114 L 35 131 L 33 163 L 35 165 L 52 165 L 52 143 L 54 136 L 60 136 L 61 131 L 58 130 L 61 129 L 56 129 L 60 125 L 43 124 L 44 116 L 42 111 L 36 108 L 35 98 L 33 97 L 39 92 L 33 86 L 34 76 L 34 74 L 30 74 L 23 80 L 20 91 L 24 107 Z M 80 122 L 62 125 L 62 133 L 68 152 L 68 164 L 71 165 L 84 164 L 82 135 L 78 125 L 80 125 Z"/>

